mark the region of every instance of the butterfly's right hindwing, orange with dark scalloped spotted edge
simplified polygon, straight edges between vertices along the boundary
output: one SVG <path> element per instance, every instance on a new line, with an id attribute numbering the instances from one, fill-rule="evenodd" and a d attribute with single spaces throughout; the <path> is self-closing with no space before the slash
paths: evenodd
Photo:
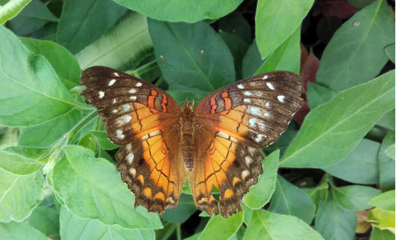
<path id="1" fill-rule="evenodd" d="M 225 218 L 241 211 L 241 202 L 249 188 L 263 173 L 263 155 L 254 147 L 242 144 L 223 132 L 200 127 L 196 132 L 196 159 L 192 172 L 187 172 L 198 209 Z M 212 187 L 220 191 L 219 207 Z"/>

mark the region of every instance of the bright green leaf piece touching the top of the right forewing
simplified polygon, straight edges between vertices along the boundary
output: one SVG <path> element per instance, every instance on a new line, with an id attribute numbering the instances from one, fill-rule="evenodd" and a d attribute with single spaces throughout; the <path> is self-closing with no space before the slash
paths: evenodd
<path id="1" fill-rule="evenodd" d="M 301 27 L 298 27 L 281 46 L 271 53 L 263 66 L 254 75 L 277 70 L 291 71 L 298 74 L 301 55 L 300 35 Z"/>

